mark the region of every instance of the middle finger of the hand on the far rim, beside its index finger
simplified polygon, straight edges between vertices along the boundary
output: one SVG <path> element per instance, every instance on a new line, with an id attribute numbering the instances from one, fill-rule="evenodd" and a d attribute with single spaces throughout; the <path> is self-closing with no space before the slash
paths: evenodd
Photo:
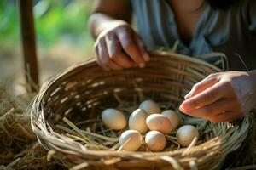
<path id="1" fill-rule="evenodd" d="M 123 68 L 131 68 L 132 66 L 136 65 L 126 54 L 122 52 L 122 47 L 119 43 L 118 37 L 115 35 L 106 36 L 106 43 L 109 57 L 115 63 Z"/>

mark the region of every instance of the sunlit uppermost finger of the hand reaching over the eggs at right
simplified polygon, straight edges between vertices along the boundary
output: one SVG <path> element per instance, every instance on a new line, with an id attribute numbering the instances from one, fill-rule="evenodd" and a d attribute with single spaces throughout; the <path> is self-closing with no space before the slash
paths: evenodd
<path id="1" fill-rule="evenodd" d="M 206 77 L 205 79 L 203 79 L 201 82 L 196 83 L 193 88 L 191 89 L 191 91 L 189 92 L 189 94 L 185 95 L 185 99 L 189 99 L 193 96 L 195 96 L 196 94 L 200 94 L 202 91 L 204 91 L 207 88 L 212 87 L 215 83 L 218 82 L 218 78 L 216 76 L 216 74 L 212 74 L 208 77 Z"/>

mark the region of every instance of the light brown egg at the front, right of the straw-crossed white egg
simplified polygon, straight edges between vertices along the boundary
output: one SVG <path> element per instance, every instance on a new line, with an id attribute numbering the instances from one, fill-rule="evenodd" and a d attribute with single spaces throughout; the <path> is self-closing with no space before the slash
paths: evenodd
<path id="1" fill-rule="evenodd" d="M 145 143 L 151 151 L 160 151 L 166 147 L 166 137 L 158 131 L 149 131 L 145 136 Z"/>

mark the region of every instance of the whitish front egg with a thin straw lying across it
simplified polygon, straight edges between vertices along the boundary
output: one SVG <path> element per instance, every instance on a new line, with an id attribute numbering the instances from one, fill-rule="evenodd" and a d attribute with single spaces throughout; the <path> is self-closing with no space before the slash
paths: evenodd
<path id="1" fill-rule="evenodd" d="M 143 144 L 143 136 L 137 130 L 126 130 L 119 137 L 119 144 L 123 150 L 135 151 Z"/>

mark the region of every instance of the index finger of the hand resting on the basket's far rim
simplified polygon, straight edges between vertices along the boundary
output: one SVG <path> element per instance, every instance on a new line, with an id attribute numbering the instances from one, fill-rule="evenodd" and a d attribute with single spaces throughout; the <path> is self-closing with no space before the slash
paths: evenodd
<path id="1" fill-rule="evenodd" d="M 120 28 L 117 31 L 117 37 L 119 37 L 119 41 L 122 48 L 125 50 L 125 53 L 128 54 L 139 67 L 144 67 L 145 60 L 143 59 L 142 54 L 140 54 L 136 42 L 133 40 L 131 29 L 128 27 Z"/>

